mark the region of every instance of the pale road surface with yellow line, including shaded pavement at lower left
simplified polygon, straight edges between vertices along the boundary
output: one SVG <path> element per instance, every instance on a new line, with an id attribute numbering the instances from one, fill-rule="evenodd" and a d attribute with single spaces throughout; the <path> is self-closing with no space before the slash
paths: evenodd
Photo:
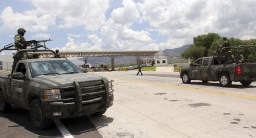
<path id="1" fill-rule="evenodd" d="M 256 83 L 181 83 L 178 73 L 99 72 L 114 82 L 114 105 L 99 118 L 62 119 L 72 137 L 256 137 Z M 39 131 L 27 110 L 0 113 L 0 137 L 64 137 Z M 65 137 L 69 137 L 65 136 Z"/>

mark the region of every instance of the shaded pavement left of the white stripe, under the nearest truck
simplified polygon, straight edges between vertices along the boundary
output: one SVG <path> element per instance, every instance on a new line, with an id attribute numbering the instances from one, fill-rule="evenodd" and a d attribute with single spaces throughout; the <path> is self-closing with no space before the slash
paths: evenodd
<path id="1" fill-rule="evenodd" d="M 5 121 L 5 124 L 7 124 L 7 128 L 3 128 L 3 125 L 1 126 L 1 128 L 4 130 L 6 129 L 10 132 L 13 131 L 13 133 L 10 133 L 10 134 L 20 134 L 20 136 L 17 136 L 17 137 L 23 137 L 24 134 L 28 134 L 25 130 L 28 130 L 31 133 L 38 135 L 38 137 L 63 137 L 60 131 L 58 131 L 58 128 L 55 127 L 55 125 L 53 125 L 48 130 L 37 130 L 36 128 L 34 128 L 34 125 L 30 121 L 30 112 L 28 110 L 14 107 L 10 113 L 5 113 L 5 114 L 0 113 L 0 118 L 8 119 L 10 122 L 14 122 L 16 124 L 16 125 L 10 125 L 13 123 L 9 123 Z M 20 131 L 20 127 L 25 128 L 25 130 Z M 17 133 L 17 131 L 20 131 L 20 132 Z M 24 137 L 34 137 L 34 136 L 24 136 Z"/>

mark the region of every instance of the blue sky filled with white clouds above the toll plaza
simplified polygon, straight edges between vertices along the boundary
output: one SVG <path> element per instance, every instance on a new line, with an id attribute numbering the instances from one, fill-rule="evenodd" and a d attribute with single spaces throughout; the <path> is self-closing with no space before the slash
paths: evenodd
<path id="1" fill-rule="evenodd" d="M 256 1 L 10 0 L 0 5 L 1 47 L 17 29 L 60 50 L 164 50 L 216 32 L 256 37 Z M 8 52 L 7 52 L 8 53 Z"/>

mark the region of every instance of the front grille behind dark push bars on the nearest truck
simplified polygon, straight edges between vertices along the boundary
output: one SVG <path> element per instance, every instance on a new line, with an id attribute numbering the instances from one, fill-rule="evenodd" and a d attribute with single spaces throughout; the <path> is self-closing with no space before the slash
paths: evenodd
<path id="1" fill-rule="evenodd" d="M 78 82 L 78 85 L 81 91 L 81 98 L 76 94 L 76 86 L 64 88 L 63 92 L 61 92 L 61 101 L 63 101 L 64 104 L 79 104 L 81 102 L 82 108 L 95 104 L 105 104 L 107 94 L 103 80 Z"/>

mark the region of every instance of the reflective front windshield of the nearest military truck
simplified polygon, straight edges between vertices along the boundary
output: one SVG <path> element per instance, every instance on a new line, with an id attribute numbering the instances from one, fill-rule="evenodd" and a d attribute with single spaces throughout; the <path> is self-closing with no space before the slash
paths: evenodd
<path id="1" fill-rule="evenodd" d="M 35 61 L 30 62 L 31 76 L 72 74 L 81 71 L 70 61 Z"/>

